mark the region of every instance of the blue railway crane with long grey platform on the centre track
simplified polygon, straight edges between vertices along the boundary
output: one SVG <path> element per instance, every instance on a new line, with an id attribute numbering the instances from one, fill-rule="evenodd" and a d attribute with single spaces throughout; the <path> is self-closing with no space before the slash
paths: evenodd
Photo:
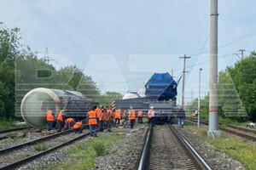
<path id="1" fill-rule="evenodd" d="M 147 113 L 150 106 L 156 111 L 156 122 L 168 122 L 177 116 L 176 108 L 177 84 L 169 73 L 154 73 L 145 84 L 145 97 L 137 93 L 125 94 L 123 99 L 116 99 L 114 107 L 121 110 L 129 110 L 132 106 L 135 110 Z"/>

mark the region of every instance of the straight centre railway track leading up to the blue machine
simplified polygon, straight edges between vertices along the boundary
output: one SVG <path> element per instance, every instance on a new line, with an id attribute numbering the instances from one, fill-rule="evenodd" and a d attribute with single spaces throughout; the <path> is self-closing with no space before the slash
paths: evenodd
<path id="1" fill-rule="evenodd" d="M 183 135 L 169 126 L 149 127 L 137 169 L 211 169 Z"/>

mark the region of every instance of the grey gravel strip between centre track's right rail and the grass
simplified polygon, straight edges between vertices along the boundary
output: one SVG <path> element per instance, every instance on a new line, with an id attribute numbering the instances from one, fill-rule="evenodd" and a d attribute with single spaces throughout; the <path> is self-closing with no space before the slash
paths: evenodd
<path id="1" fill-rule="evenodd" d="M 174 125 L 177 128 L 177 126 Z M 231 156 L 218 152 L 211 144 L 199 139 L 195 134 L 187 130 L 185 127 L 179 129 L 181 133 L 189 140 L 189 143 L 199 152 L 199 154 L 207 161 L 212 169 L 218 170 L 245 170 L 241 162 L 236 161 Z"/>

